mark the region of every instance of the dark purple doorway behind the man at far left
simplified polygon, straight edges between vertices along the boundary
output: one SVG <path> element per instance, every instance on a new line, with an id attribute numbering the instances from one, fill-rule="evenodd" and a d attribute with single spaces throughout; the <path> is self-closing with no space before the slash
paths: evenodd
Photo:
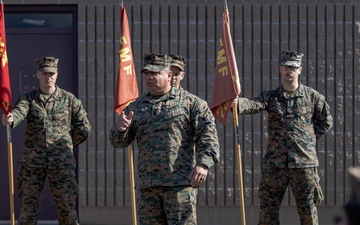
<path id="1" fill-rule="evenodd" d="M 38 88 L 35 60 L 43 56 L 59 58 L 57 85 L 77 95 L 77 7 L 5 5 L 4 9 L 13 104 L 20 93 Z M 16 219 L 20 207 L 17 197 L 18 161 L 24 146 L 25 127 L 24 121 L 12 130 Z M 3 126 L 0 129 L 0 149 L 0 220 L 9 220 L 7 139 Z M 42 194 L 38 218 L 57 220 L 48 183 Z"/>

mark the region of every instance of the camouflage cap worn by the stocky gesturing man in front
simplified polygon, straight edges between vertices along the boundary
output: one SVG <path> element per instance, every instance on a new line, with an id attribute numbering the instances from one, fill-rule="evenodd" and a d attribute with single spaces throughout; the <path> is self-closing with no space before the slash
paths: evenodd
<path id="1" fill-rule="evenodd" d="M 170 68 L 171 57 L 165 54 L 149 53 L 144 55 L 144 67 L 141 70 L 143 73 L 145 70 L 151 72 L 160 72 L 165 68 Z"/>

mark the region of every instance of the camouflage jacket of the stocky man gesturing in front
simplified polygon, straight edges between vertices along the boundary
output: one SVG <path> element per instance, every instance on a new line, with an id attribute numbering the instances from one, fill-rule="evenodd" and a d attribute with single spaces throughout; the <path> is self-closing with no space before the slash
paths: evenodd
<path id="1" fill-rule="evenodd" d="M 116 126 L 110 140 L 127 147 L 136 137 L 139 148 L 136 188 L 191 185 L 188 176 L 196 165 L 208 168 L 219 161 L 215 119 L 207 103 L 176 88 L 154 100 L 143 94 L 124 109 L 134 112 L 125 132 Z"/>

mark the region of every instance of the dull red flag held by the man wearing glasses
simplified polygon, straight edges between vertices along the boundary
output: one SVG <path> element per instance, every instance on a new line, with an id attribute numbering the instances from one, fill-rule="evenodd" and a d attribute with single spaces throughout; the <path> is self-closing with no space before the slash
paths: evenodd
<path id="1" fill-rule="evenodd" d="M 223 124 L 226 124 L 232 101 L 237 98 L 240 92 L 239 73 L 230 32 L 229 10 L 225 6 L 210 106 L 215 118 Z"/>

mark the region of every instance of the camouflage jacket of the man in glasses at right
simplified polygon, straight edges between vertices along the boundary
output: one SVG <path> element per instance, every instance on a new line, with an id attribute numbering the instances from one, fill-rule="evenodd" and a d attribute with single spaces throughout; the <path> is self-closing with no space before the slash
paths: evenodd
<path id="1" fill-rule="evenodd" d="M 239 98 L 239 114 L 268 112 L 268 146 L 264 165 L 305 168 L 319 165 L 316 140 L 333 124 L 325 97 L 300 84 L 288 95 L 282 87 L 256 98 Z"/>

